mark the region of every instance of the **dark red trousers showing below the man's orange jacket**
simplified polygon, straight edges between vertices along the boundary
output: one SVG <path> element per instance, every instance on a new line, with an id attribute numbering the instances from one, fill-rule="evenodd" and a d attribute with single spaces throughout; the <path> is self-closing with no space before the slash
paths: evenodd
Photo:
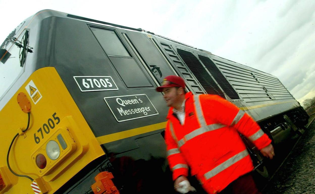
<path id="1" fill-rule="evenodd" d="M 253 176 L 248 173 L 238 177 L 219 194 L 261 194 L 258 191 Z"/>

